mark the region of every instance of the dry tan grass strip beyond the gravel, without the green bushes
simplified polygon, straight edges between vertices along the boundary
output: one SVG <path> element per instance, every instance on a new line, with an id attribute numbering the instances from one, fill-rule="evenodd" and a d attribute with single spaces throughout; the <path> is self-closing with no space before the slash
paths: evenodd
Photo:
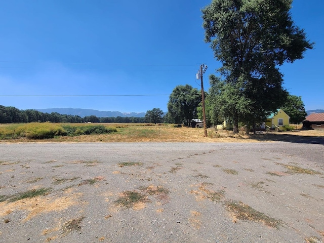
<path id="1" fill-rule="evenodd" d="M 0 142 L 271 142 L 287 141 L 304 137 L 324 137 L 324 131 L 308 130 L 294 132 L 271 132 L 258 135 L 244 132 L 233 134 L 232 131 L 207 129 L 208 137 L 204 137 L 204 129 L 199 128 L 175 128 L 172 124 L 150 125 L 147 124 L 101 124 L 106 127 L 116 128 L 116 133 L 102 135 L 81 135 L 76 137 L 59 136 L 52 139 L 32 140 L 26 138 L 14 140 L 0 140 Z M 10 125 L 2 125 L 10 126 Z M 73 124 L 77 126 L 77 124 Z"/>

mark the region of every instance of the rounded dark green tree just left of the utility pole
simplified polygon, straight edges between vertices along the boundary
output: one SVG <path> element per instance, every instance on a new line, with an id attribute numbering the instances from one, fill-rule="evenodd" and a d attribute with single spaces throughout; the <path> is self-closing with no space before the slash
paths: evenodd
<path id="1" fill-rule="evenodd" d="M 172 91 L 168 102 L 168 119 L 173 123 L 186 123 L 197 117 L 201 93 L 190 85 L 179 85 Z"/>

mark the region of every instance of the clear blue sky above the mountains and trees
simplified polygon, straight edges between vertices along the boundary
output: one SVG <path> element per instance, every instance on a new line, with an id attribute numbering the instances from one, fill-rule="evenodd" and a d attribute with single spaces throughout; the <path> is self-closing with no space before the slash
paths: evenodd
<path id="1" fill-rule="evenodd" d="M 200 64 L 209 67 L 205 90 L 209 74 L 220 67 L 201 27 L 200 9 L 210 2 L 3 0 L 0 105 L 167 111 L 176 86 L 200 89 Z M 302 96 L 306 110 L 324 109 L 323 9 L 322 0 L 294 0 L 293 19 L 315 48 L 280 68 L 285 88 Z"/>

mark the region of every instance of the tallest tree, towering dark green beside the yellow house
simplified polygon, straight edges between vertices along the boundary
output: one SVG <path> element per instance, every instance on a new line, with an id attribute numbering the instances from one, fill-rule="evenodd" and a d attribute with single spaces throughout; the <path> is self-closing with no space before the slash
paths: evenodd
<path id="1" fill-rule="evenodd" d="M 218 71 L 223 82 L 233 97 L 248 103 L 243 114 L 224 112 L 233 120 L 234 133 L 239 121 L 255 124 L 284 104 L 288 93 L 279 66 L 303 58 L 313 47 L 294 24 L 291 4 L 292 0 L 213 0 L 202 10 L 205 41 L 222 63 Z M 231 96 L 224 97 L 235 103 Z"/>

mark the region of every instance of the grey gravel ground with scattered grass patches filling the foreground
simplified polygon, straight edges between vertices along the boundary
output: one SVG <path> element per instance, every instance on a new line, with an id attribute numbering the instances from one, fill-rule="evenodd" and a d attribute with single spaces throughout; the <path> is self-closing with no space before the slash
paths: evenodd
<path id="1" fill-rule="evenodd" d="M 0 201 L 6 243 L 322 242 L 324 146 L 2 143 Z"/>

